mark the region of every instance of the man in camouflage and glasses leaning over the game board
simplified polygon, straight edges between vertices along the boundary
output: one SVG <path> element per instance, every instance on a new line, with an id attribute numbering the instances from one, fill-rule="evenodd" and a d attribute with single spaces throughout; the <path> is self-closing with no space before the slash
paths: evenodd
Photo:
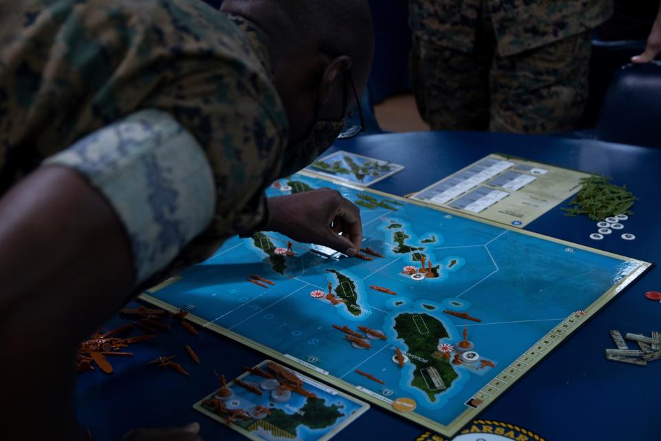
<path id="1" fill-rule="evenodd" d="M 3 439 L 81 439 L 78 343 L 230 236 L 355 254 L 338 192 L 264 190 L 335 141 L 373 45 L 363 0 L 0 0 Z"/>

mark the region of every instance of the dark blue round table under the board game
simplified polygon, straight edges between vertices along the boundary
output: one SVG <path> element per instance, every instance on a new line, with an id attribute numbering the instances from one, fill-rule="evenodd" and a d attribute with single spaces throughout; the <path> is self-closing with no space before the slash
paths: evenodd
<path id="1" fill-rule="evenodd" d="M 595 223 L 569 218 L 559 207 L 528 225 L 533 232 L 598 247 L 652 263 L 661 261 L 659 201 L 661 150 L 598 141 L 547 136 L 424 132 L 383 134 L 339 141 L 331 150 L 348 150 L 392 161 L 406 169 L 374 185 L 384 192 L 405 195 L 438 181 L 493 152 L 594 172 L 626 184 L 640 198 L 635 215 L 627 220 L 631 242 L 613 234 L 595 242 L 589 234 Z M 647 367 L 608 362 L 605 347 L 613 347 L 609 329 L 623 332 L 661 331 L 661 305 L 644 298 L 644 292 L 661 290 L 661 270 L 653 268 L 605 309 L 576 331 L 529 375 L 517 382 L 481 418 L 510 422 L 538 433 L 547 440 L 657 440 L 661 438 L 658 399 L 661 362 Z M 110 329 L 121 320 L 114 317 Z M 196 349 L 202 365 L 187 360 L 184 345 Z M 116 440 L 132 427 L 202 424 L 206 440 L 242 439 L 191 409 L 193 402 L 209 393 L 216 382 L 211 369 L 229 378 L 241 365 L 255 365 L 264 357 L 215 334 L 198 337 L 181 327 L 160 334 L 158 340 L 133 348 L 136 357 L 113 360 L 116 372 L 100 371 L 79 377 L 78 416 L 97 441 Z M 176 353 L 191 376 L 160 370 L 145 362 Z M 193 367 L 191 367 L 193 366 Z M 54 403 L 56 405 L 56 403 Z M 373 407 L 338 440 L 415 440 L 425 429 Z"/>

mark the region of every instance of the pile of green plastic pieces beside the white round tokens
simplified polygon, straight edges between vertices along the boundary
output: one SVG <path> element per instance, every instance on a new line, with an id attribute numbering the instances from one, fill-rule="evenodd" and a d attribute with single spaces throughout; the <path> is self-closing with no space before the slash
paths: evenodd
<path id="1" fill-rule="evenodd" d="M 581 179 L 583 187 L 569 203 L 569 208 L 563 208 L 567 216 L 586 214 L 592 220 L 604 220 L 618 214 L 633 214 L 631 207 L 638 201 L 627 186 L 618 187 L 609 184 L 603 176 L 590 176 Z"/>

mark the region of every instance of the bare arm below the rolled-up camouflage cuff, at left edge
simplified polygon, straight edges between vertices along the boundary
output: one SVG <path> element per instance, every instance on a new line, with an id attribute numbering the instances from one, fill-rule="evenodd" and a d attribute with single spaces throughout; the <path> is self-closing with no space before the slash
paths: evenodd
<path id="1" fill-rule="evenodd" d="M 0 199 L 0 244 L 3 431 L 61 439 L 77 343 L 130 294 L 129 243 L 83 178 L 43 167 Z"/>

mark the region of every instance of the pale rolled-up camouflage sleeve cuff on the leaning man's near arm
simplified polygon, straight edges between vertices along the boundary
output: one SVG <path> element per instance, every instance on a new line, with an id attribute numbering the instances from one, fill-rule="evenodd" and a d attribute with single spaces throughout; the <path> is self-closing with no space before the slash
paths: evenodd
<path id="1" fill-rule="evenodd" d="M 114 207 L 132 247 L 136 285 L 167 267 L 213 218 L 216 195 L 207 158 L 165 112 L 132 114 L 44 165 L 83 174 Z"/>

